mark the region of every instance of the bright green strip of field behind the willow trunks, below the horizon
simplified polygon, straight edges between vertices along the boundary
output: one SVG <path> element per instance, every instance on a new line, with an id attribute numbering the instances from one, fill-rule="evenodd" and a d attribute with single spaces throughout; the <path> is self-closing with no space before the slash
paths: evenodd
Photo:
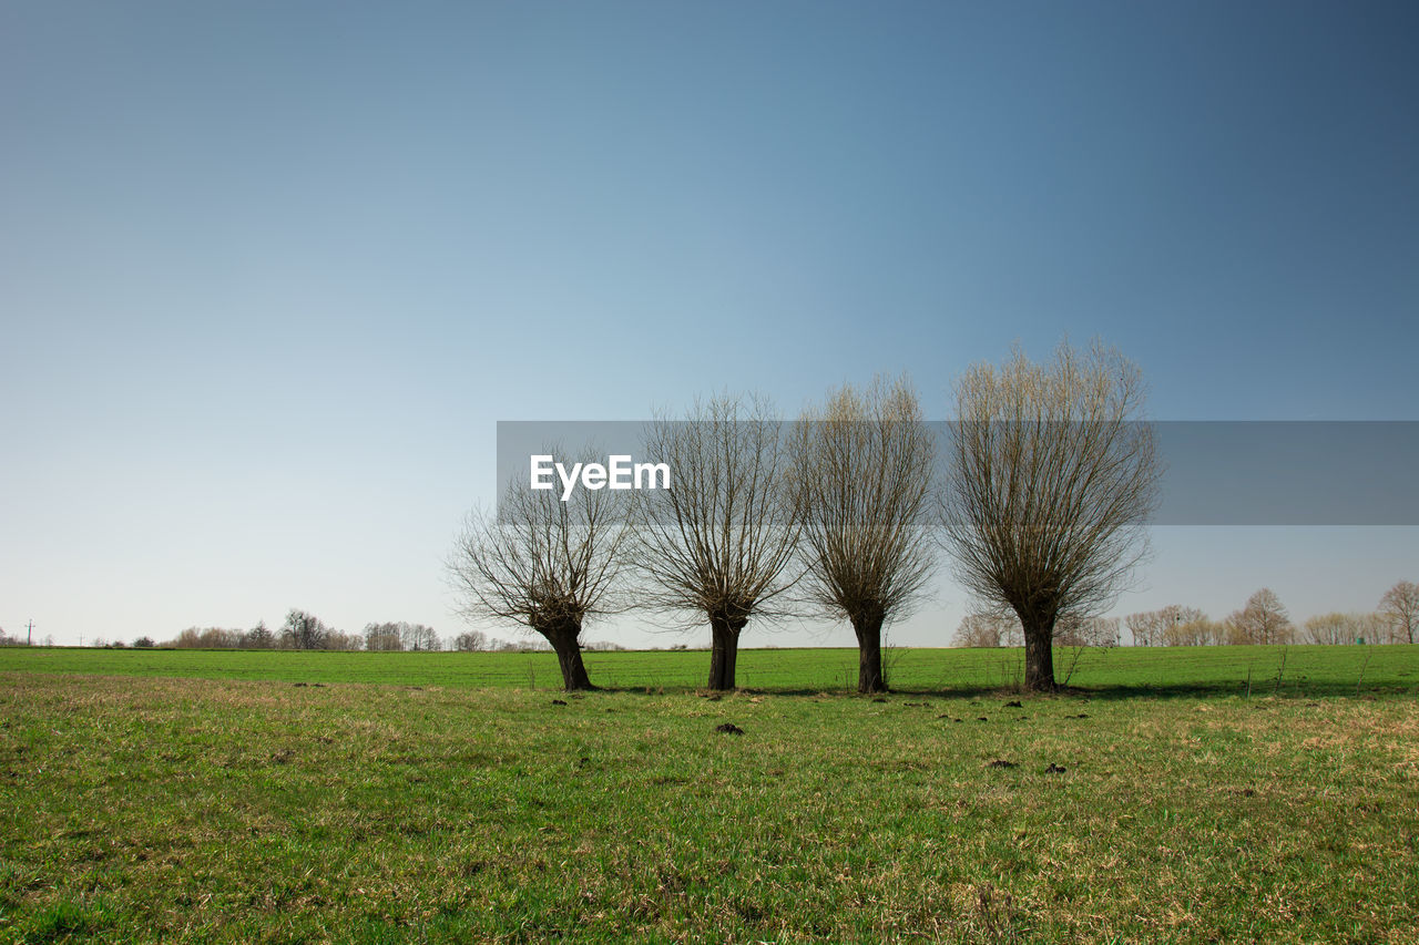
<path id="1" fill-rule="evenodd" d="M 587 651 L 604 690 L 704 688 L 707 650 Z M 888 685 L 901 692 L 1012 691 L 1023 680 L 1020 647 L 888 647 Z M 562 687 L 556 656 L 451 651 L 182 650 L 0 647 L 0 673 L 369 682 L 451 688 Z M 1419 692 L 1419 646 L 1056 647 L 1060 685 L 1100 695 L 1359 695 Z M 856 690 L 854 647 L 739 650 L 738 688 L 776 692 Z"/>

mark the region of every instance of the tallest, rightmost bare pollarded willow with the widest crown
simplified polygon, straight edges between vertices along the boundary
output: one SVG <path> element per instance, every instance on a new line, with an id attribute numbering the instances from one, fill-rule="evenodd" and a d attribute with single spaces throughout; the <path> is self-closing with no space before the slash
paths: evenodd
<path id="1" fill-rule="evenodd" d="M 1147 553 L 1158 502 L 1138 368 L 1094 343 L 1049 363 L 1020 349 L 956 383 L 941 502 L 958 580 L 1025 629 L 1025 687 L 1054 688 L 1054 626 L 1107 610 Z"/>

